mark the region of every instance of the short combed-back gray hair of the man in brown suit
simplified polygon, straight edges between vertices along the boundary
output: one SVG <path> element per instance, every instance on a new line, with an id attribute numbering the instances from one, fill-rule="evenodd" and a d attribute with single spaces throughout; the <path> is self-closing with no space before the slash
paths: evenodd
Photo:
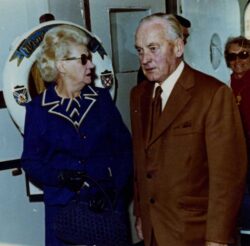
<path id="1" fill-rule="evenodd" d="M 160 20 L 161 23 L 164 23 L 166 36 L 168 39 L 174 41 L 178 38 L 183 39 L 183 32 L 180 22 L 176 19 L 176 17 L 172 14 L 164 14 L 164 13 L 155 13 L 149 16 L 146 16 L 141 19 L 139 23 L 139 27 L 141 24 L 148 21 L 157 21 Z M 138 28 L 139 28 L 138 27 Z"/>

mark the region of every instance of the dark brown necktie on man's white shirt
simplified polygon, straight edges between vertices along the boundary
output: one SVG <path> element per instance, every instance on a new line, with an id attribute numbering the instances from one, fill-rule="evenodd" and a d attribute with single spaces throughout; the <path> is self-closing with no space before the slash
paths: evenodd
<path id="1" fill-rule="evenodd" d="M 155 97 L 152 101 L 152 122 L 151 122 L 151 136 L 153 134 L 154 128 L 159 121 L 162 111 L 162 101 L 161 101 L 161 86 L 157 86 L 155 89 Z"/>

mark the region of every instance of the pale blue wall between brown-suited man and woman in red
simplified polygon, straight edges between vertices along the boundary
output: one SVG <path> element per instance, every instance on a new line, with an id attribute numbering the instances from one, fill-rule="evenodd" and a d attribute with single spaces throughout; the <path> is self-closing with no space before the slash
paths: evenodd
<path id="1" fill-rule="evenodd" d="M 180 0 L 181 14 L 192 26 L 185 47 L 185 60 L 194 68 L 228 83 L 230 70 L 224 59 L 227 38 L 240 35 L 240 7 L 238 0 Z M 211 38 L 217 34 L 220 45 L 213 44 L 213 56 L 219 66 L 213 68 L 210 60 Z"/>

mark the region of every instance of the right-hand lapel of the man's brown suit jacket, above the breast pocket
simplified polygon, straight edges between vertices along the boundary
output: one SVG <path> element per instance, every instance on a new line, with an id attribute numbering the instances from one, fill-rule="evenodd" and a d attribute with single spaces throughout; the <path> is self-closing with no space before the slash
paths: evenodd
<path id="1" fill-rule="evenodd" d="M 180 78 L 177 80 L 173 91 L 170 94 L 159 123 L 156 126 L 156 130 L 148 142 L 148 146 L 161 136 L 192 98 L 189 91 L 189 89 L 194 86 L 194 78 L 192 74 L 192 69 L 185 65 Z"/>

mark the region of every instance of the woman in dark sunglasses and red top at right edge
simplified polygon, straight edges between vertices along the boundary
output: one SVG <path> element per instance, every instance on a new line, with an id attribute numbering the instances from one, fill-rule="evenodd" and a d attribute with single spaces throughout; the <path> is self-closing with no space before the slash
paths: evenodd
<path id="1" fill-rule="evenodd" d="M 250 158 L 250 41 L 243 36 L 229 38 L 225 46 L 227 66 L 232 70 L 231 87 L 241 113 Z M 248 172 L 249 173 L 249 172 Z M 241 209 L 241 245 L 250 245 L 250 177 Z M 247 232 L 248 231 L 248 232 Z"/>

